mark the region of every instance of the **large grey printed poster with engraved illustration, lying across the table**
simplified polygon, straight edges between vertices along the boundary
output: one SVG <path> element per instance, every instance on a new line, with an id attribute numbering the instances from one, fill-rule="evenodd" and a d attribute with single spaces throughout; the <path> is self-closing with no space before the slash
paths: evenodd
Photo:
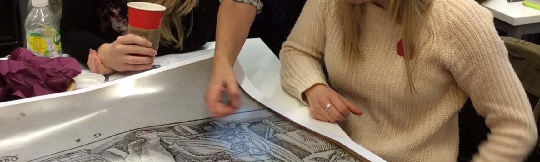
<path id="1" fill-rule="evenodd" d="M 247 94 L 237 113 L 209 118 L 202 96 L 211 65 L 206 59 L 86 93 L 0 107 L 0 162 L 360 161 Z"/>

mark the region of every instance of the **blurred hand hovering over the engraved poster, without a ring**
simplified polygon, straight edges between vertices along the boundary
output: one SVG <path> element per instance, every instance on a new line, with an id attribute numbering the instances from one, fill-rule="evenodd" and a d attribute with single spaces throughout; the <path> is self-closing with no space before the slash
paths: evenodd
<path id="1" fill-rule="evenodd" d="M 228 103 L 221 102 L 223 93 L 228 93 L 230 100 Z M 205 101 L 212 117 L 232 114 L 242 105 L 240 88 L 230 65 L 220 61 L 214 62 L 212 79 L 206 90 Z"/>

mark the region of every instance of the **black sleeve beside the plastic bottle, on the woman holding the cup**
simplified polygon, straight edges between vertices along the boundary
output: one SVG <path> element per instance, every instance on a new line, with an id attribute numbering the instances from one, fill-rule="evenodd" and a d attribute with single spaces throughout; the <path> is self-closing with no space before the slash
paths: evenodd
<path id="1" fill-rule="evenodd" d="M 97 16 L 98 3 L 93 0 L 64 0 L 60 33 L 62 49 L 82 64 L 88 61 L 89 49 L 97 50 L 110 40 L 96 34 L 100 20 Z"/>

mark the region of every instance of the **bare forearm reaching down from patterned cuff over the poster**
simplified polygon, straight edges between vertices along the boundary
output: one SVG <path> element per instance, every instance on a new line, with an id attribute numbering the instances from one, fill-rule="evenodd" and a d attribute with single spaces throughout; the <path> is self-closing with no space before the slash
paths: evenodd
<path id="1" fill-rule="evenodd" d="M 256 14 L 257 9 L 250 4 L 236 1 L 221 3 L 215 34 L 214 64 L 234 65 Z"/>

